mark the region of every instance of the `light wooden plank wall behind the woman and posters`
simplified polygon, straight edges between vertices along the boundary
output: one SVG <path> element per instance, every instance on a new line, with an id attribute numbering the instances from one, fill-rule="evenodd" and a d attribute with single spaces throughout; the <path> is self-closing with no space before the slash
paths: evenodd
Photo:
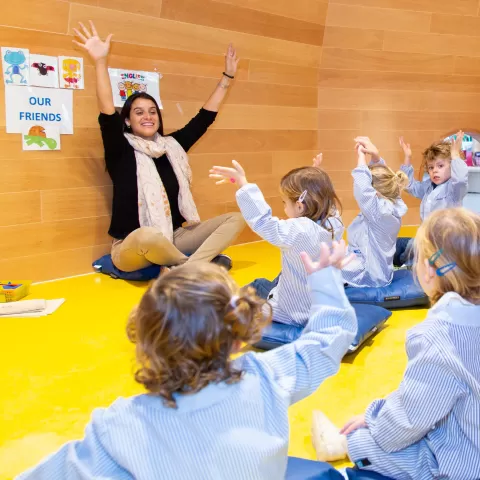
<path id="1" fill-rule="evenodd" d="M 397 138 L 419 151 L 462 127 L 477 130 L 479 0 L 17 0 L 3 6 L 0 44 L 83 53 L 78 20 L 115 34 L 110 65 L 158 70 L 167 129 L 186 123 L 213 90 L 233 41 L 242 57 L 218 120 L 191 154 L 203 218 L 236 209 L 212 164 L 241 161 L 281 214 L 278 181 L 317 150 L 357 213 L 353 138 L 370 135 L 394 166 Z M 25 12 L 33 12 L 25 15 Z M 23 152 L 5 134 L 0 93 L 0 278 L 44 280 L 90 271 L 107 252 L 111 185 L 97 126 L 93 66 L 74 92 L 73 136 L 60 152 Z M 3 89 L 3 85 L 0 86 Z M 406 223 L 419 221 L 408 199 Z M 239 242 L 255 240 L 246 230 Z"/>

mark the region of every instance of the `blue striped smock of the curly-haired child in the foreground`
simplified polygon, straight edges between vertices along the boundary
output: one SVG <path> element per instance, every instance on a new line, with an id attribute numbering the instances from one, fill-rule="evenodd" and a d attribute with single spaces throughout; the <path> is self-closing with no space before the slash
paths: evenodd
<path id="1" fill-rule="evenodd" d="M 285 477 L 288 408 L 338 371 L 357 330 L 340 272 L 310 277 L 310 320 L 295 342 L 234 361 L 233 385 L 177 396 L 121 398 L 97 409 L 85 438 L 64 445 L 19 480 L 280 480 Z"/>

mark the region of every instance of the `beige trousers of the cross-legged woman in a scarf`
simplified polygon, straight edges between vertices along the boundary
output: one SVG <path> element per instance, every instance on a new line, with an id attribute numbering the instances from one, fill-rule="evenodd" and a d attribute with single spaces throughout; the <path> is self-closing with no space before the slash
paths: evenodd
<path id="1" fill-rule="evenodd" d="M 124 240 L 113 242 L 112 260 L 124 272 L 152 264 L 170 266 L 187 261 L 209 262 L 231 245 L 244 227 L 241 213 L 226 213 L 197 225 L 177 228 L 173 243 L 157 228 L 140 227 Z"/>

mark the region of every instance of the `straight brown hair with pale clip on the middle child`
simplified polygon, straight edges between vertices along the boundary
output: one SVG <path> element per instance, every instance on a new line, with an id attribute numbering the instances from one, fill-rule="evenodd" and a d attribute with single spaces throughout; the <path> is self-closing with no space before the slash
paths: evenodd
<path id="1" fill-rule="evenodd" d="M 298 202 L 304 191 L 305 211 L 303 216 L 320 221 L 323 228 L 332 233 L 329 217 L 341 215 L 342 204 L 335 193 L 333 183 L 325 170 L 318 167 L 300 167 L 288 172 L 280 181 L 280 190 L 292 202 Z"/>

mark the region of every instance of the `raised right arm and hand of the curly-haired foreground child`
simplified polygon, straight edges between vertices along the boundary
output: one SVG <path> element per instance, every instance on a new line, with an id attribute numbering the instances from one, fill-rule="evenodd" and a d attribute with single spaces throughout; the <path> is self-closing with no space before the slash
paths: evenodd
<path id="1" fill-rule="evenodd" d="M 247 353 L 238 359 L 245 371 L 273 379 L 295 403 L 313 393 L 335 374 L 357 332 L 355 310 L 350 305 L 338 268 L 352 257 L 345 257 L 342 240 L 334 242 L 333 253 L 321 246 L 318 262 L 306 254 L 302 260 L 309 273 L 312 290 L 310 319 L 295 342 L 266 353 Z"/>

